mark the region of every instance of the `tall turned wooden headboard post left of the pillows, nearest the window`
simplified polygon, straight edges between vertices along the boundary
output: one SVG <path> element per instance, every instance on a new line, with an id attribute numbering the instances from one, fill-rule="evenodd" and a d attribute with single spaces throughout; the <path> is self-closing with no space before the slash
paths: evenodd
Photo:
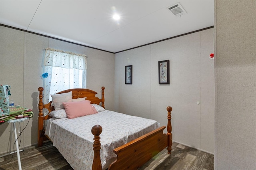
<path id="1" fill-rule="evenodd" d="M 44 115 L 43 115 L 43 87 L 38 88 L 39 91 L 39 103 L 38 103 L 38 147 L 43 146 L 43 130 L 44 130 Z"/>

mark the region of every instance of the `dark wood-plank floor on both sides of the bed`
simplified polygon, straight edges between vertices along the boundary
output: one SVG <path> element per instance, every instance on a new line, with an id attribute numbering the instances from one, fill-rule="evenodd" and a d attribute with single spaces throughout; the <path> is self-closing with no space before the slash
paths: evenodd
<path id="1" fill-rule="evenodd" d="M 52 142 L 24 149 L 20 152 L 23 170 L 73 170 Z M 171 155 L 164 149 L 140 170 L 213 170 L 213 162 L 212 154 L 174 142 Z M 0 158 L 0 170 L 18 170 L 17 154 Z"/>

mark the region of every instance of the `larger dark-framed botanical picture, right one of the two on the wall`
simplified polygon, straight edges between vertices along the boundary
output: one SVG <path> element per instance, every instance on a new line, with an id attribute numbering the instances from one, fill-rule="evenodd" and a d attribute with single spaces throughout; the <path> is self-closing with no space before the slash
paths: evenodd
<path id="1" fill-rule="evenodd" d="M 170 84 L 170 61 L 158 61 L 158 83 Z"/>

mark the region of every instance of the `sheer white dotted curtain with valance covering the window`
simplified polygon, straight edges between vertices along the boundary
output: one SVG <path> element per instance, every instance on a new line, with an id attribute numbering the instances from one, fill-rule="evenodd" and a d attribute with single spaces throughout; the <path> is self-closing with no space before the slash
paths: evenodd
<path id="1" fill-rule="evenodd" d="M 73 88 L 86 88 L 87 56 L 47 48 L 44 55 L 44 103 L 51 94 Z"/>

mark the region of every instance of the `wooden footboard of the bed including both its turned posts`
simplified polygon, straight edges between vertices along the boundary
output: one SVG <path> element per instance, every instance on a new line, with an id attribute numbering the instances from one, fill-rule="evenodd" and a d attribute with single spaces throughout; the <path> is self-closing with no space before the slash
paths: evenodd
<path id="1" fill-rule="evenodd" d="M 167 147 L 168 154 L 171 154 L 172 150 L 172 125 L 171 125 L 171 111 L 172 107 L 167 107 L 168 111 L 168 124 L 167 134 L 163 133 L 165 126 L 160 127 L 148 134 L 145 134 L 127 144 L 124 144 L 114 149 L 117 155 L 116 161 L 110 164 L 109 170 L 123 170 L 123 169 L 138 169 L 148 160 L 153 158 L 161 150 Z M 100 125 L 96 125 L 92 128 L 92 134 L 94 134 L 94 161 L 92 169 L 101 169 L 100 162 L 100 133 L 102 128 Z"/>

